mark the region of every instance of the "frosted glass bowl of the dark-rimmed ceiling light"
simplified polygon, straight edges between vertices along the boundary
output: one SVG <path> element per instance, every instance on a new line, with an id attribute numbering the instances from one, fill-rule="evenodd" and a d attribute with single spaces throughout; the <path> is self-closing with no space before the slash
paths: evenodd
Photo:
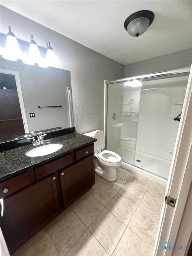
<path id="1" fill-rule="evenodd" d="M 147 18 L 138 18 L 131 21 L 127 26 L 127 32 L 130 36 L 140 36 L 149 27 L 149 20 Z"/>

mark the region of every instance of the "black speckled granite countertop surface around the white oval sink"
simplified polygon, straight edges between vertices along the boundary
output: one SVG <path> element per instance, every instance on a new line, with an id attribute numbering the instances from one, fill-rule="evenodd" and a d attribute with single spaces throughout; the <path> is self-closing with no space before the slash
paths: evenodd
<path id="1" fill-rule="evenodd" d="M 73 132 L 48 140 L 46 140 L 45 137 L 45 142 L 58 142 L 63 144 L 61 149 L 49 155 L 38 157 L 26 156 L 26 151 L 33 148 L 32 144 L 3 151 L 0 153 L 1 181 L 14 177 L 17 174 L 24 172 L 29 167 L 41 165 L 50 160 L 63 156 L 74 149 L 81 148 L 95 141 L 96 139 L 94 138 Z"/>

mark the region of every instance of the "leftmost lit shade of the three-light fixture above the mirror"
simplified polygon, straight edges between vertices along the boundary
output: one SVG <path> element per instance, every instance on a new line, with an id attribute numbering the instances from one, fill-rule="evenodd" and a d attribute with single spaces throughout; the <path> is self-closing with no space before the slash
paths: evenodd
<path id="1" fill-rule="evenodd" d="M 19 47 L 17 38 L 11 31 L 11 27 L 8 26 L 9 31 L 7 33 L 6 47 L 4 49 L 2 57 L 6 60 L 16 61 L 22 58 L 22 51 Z"/>

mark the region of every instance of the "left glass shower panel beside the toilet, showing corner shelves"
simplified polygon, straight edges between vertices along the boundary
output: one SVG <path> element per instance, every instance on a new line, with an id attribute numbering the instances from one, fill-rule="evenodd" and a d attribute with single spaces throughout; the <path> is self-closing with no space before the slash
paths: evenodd
<path id="1" fill-rule="evenodd" d="M 142 81 L 107 86 L 106 148 L 134 164 Z"/>

